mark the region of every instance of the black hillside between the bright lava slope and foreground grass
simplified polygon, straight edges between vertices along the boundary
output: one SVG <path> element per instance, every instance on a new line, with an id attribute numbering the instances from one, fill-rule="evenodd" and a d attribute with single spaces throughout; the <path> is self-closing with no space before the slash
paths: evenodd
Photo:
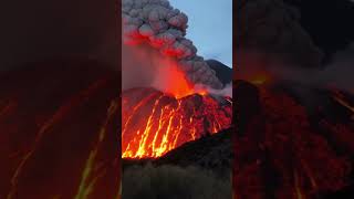
<path id="1" fill-rule="evenodd" d="M 164 168 L 171 167 L 188 170 L 198 169 L 200 172 L 212 174 L 212 179 L 229 179 L 233 163 L 232 136 L 235 128 L 221 130 L 217 134 L 201 137 L 183 144 L 156 159 L 122 159 L 123 172 L 136 166 Z M 189 176 L 192 176 L 189 174 Z"/>

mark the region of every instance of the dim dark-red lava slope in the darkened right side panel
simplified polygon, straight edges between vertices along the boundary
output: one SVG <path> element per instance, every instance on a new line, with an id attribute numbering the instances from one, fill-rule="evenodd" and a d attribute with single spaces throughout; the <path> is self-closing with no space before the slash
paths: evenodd
<path id="1" fill-rule="evenodd" d="M 350 117 L 334 121 L 334 112 L 321 104 L 311 113 L 284 90 L 240 81 L 233 85 L 239 128 L 235 137 L 236 198 L 324 198 L 350 186 L 354 153 Z M 336 103 L 337 94 L 323 95 L 334 109 L 343 107 Z"/>

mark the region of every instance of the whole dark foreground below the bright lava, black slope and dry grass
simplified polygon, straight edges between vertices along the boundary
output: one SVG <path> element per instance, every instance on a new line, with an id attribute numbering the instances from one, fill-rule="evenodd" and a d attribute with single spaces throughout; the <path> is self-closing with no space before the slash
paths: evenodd
<path id="1" fill-rule="evenodd" d="M 232 134 L 186 143 L 158 159 L 123 159 L 123 198 L 231 198 Z"/>

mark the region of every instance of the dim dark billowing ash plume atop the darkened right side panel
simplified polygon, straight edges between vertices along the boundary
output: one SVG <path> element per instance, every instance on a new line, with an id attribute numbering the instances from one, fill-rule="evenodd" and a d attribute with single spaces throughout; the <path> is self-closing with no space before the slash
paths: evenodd
<path id="1" fill-rule="evenodd" d="M 303 67 L 321 64 L 323 53 L 301 27 L 296 8 L 282 0 L 239 0 L 236 6 L 237 50 L 267 52 L 272 60 Z M 243 59 L 241 53 L 236 52 Z"/>

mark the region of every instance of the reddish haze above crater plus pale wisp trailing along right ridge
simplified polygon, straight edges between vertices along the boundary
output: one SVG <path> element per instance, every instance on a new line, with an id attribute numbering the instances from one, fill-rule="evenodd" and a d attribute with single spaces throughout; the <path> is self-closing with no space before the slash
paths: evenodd
<path id="1" fill-rule="evenodd" d="M 174 88 L 178 92 L 176 87 L 180 87 L 179 84 L 187 84 L 185 75 L 178 70 L 176 60 L 163 56 L 148 45 L 123 45 L 122 57 L 123 91 L 134 87 L 154 87 L 164 93 L 171 93 Z M 207 91 L 214 95 L 232 97 L 231 83 L 222 90 L 215 90 L 204 84 L 189 86 L 192 93 Z"/>

